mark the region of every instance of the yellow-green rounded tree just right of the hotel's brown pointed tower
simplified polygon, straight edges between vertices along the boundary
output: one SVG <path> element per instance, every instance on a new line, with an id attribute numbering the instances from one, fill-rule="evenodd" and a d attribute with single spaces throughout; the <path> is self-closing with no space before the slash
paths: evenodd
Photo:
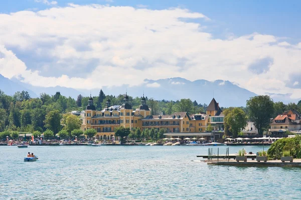
<path id="1" fill-rule="evenodd" d="M 241 129 L 247 125 L 246 113 L 241 108 L 234 108 L 224 118 L 225 126 L 230 128 L 233 137 L 237 137 L 237 134 Z"/>

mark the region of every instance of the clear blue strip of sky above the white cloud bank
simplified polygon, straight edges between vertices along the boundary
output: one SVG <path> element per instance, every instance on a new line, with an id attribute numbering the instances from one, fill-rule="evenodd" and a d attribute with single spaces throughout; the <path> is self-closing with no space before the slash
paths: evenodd
<path id="1" fill-rule="evenodd" d="M 51 1 L 49 1 L 51 2 Z M 208 1 L 208 0 L 56 0 L 57 6 L 64 7 L 69 3 L 109 4 L 111 6 L 147 6 L 147 9 L 162 10 L 181 7 L 193 12 L 200 12 L 213 21 L 211 33 L 223 37 L 222 33 L 234 33 L 241 36 L 253 32 L 289 38 L 291 42 L 301 39 L 301 1 Z M 1 0 L 0 12 L 11 13 L 28 9 L 49 9 L 50 7 L 34 0 Z"/>

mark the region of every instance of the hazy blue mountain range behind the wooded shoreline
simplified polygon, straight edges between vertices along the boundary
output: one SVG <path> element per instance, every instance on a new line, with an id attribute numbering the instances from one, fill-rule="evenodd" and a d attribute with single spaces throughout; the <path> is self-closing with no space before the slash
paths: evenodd
<path id="1" fill-rule="evenodd" d="M 76 99 L 79 94 L 89 96 L 90 92 L 92 96 L 98 96 L 100 89 L 92 89 L 90 91 L 60 86 L 37 87 L 23 83 L 15 78 L 8 79 L 0 74 L 0 90 L 4 91 L 7 95 L 14 95 L 17 91 L 25 90 L 28 91 L 33 98 L 40 96 L 40 93 L 53 95 L 59 91 L 64 96 L 71 96 Z M 145 79 L 144 84 L 139 86 L 129 87 L 128 85 L 122 85 L 102 87 L 102 90 L 105 94 L 110 95 L 124 94 L 126 91 L 128 95 L 133 97 L 140 97 L 144 92 L 145 96 L 148 98 L 153 97 L 156 100 L 180 100 L 182 98 L 190 98 L 192 101 L 196 100 L 201 104 L 209 104 L 214 97 L 222 107 L 245 106 L 246 100 L 256 96 L 255 93 L 241 88 L 230 81 L 189 81 L 179 77 L 160 80 Z M 287 98 L 289 94 L 268 93 L 268 95 L 272 96 L 274 101 L 290 102 L 289 98 Z"/>

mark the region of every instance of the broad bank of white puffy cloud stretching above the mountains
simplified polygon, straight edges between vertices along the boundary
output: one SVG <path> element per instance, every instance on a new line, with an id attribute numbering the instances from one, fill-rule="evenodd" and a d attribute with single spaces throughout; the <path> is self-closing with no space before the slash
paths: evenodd
<path id="1" fill-rule="evenodd" d="M 301 74 L 301 43 L 288 46 L 259 33 L 217 39 L 193 19 L 208 18 L 180 8 L 74 4 L 0 14 L 0 73 L 45 87 L 133 86 L 182 77 L 297 95 L 299 85 L 292 85 L 299 80 L 290 77 Z"/>

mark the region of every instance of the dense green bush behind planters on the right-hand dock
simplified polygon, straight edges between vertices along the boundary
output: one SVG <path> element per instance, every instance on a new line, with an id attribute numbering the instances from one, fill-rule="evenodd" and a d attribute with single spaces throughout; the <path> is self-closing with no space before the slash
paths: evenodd
<path id="1" fill-rule="evenodd" d="M 301 136 L 296 135 L 275 141 L 267 150 L 267 154 L 271 159 L 280 159 L 284 151 L 289 151 L 294 158 L 301 158 Z"/>

